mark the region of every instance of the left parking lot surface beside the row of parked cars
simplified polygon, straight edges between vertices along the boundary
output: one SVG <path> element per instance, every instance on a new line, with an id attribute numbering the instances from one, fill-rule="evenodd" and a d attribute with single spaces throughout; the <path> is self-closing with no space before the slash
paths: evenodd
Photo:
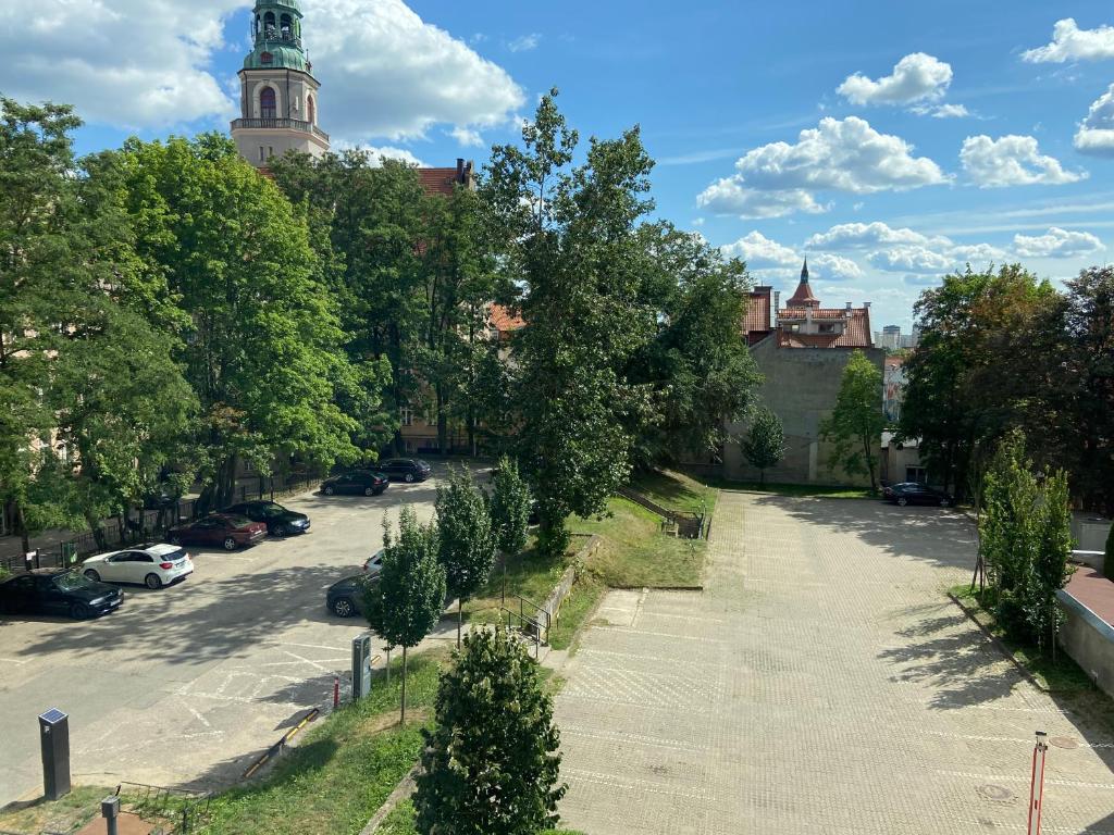
<path id="1" fill-rule="evenodd" d="M 41 790 L 36 717 L 51 707 L 70 716 L 75 782 L 213 788 L 238 777 L 306 708 L 331 704 L 367 623 L 326 611 L 325 588 L 382 546 L 384 513 L 394 521 L 412 504 L 429 519 L 443 473 L 375 498 L 283 499 L 310 515 L 307 534 L 233 553 L 189 548 L 192 577 L 127 587 L 97 620 L 0 617 L 0 806 Z M 456 637 L 455 621 L 442 626 Z"/>

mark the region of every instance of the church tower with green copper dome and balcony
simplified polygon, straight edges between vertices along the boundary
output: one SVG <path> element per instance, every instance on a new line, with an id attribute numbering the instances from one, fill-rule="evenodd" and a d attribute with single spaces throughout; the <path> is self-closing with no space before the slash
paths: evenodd
<path id="1" fill-rule="evenodd" d="M 240 70 L 241 118 L 232 122 L 240 155 L 260 168 L 287 150 L 320 157 L 329 134 L 317 127 L 321 85 L 302 47 L 299 0 L 256 0 L 252 38 Z"/>

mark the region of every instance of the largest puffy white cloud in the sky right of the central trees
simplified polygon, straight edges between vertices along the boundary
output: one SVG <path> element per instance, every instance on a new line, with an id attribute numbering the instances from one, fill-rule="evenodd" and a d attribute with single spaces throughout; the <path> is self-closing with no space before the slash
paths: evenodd
<path id="1" fill-rule="evenodd" d="M 947 181 L 936 163 L 912 150 L 864 119 L 829 117 L 802 130 L 794 145 L 771 143 L 747 151 L 735 163 L 736 174 L 713 183 L 697 203 L 719 214 L 780 217 L 825 210 L 814 191 L 903 191 Z"/>

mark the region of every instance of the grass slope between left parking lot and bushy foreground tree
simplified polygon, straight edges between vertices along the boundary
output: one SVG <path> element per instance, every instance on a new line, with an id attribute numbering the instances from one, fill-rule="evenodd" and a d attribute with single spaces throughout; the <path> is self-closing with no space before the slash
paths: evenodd
<path id="1" fill-rule="evenodd" d="M 398 726 L 401 658 L 391 684 L 316 726 L 266 776 L 213 799 L 204 835 L 359 833 L 413 767 L 437 694 L 444 652 L 409 660 L 407 725 Z"/>

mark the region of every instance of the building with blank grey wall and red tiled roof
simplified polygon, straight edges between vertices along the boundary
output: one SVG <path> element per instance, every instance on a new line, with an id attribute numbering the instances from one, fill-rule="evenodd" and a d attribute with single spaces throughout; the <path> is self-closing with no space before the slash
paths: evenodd
<path id="1" fill-rule="evenodd" d="M 764 377 L 760 402 L 781 419 L 785 433 L 785 458 L 766 470 L 766 480 L 860 483 L 831 468 L 831 446 L 820 439 L 820 424 L 836 405 L 843 369 L 854 351 L 862 351 L 882 369 L 886 353 L 874 346 L 869 303 L 823 307 L 809 284 L 805 262 L 797 292 L 784 308 L 779 310 L 778 294 L 771 287 L 752 291 L 745 330 L 751 355 Z M 881 389 L 878 409 L 882 409 Z M 733 440 L 723 449 L 723 475 L 758 481 L 759 471 L 746 461 L 740 443 L 746 438 L 746 423 L 729 424 L 727 431 Z"/>

